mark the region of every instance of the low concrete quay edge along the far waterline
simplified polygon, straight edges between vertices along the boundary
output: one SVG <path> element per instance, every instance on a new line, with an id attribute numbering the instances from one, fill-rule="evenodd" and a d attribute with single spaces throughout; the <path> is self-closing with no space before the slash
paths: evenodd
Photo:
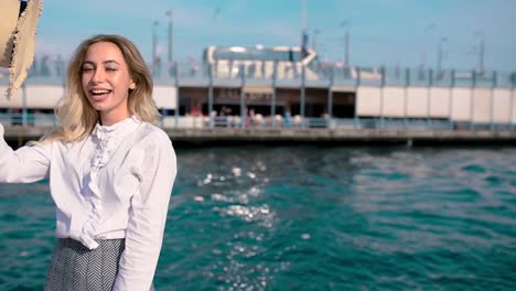
<path id="1" fill-rule="evenodd" d="M 45 127 L 6 127 L 4 139 L 13 147 L 37 140 L 50 132 Z M 324 144 L 324 146 L 508 146 L 516 144 L 510 130 L 431 129 L 326 129 L 326 128 L 163 128 L 174 146 L 224 144 Z"/>

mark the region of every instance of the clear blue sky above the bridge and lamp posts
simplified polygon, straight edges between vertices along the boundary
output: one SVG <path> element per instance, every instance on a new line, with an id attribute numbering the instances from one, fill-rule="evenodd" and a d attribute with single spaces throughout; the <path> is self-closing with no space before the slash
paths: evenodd
<path id="1" fill-rule="evenodd" d="M 486 69 L 516 71 L 516 0 L 305 0 L 307 28 L 319 54 L 362 66 L 437 66 L 474 69 L 481 34 Z M 36 54 L 68 57 L 97 33 L 131 39 L 151 58 L 152 25 L 159 22 L 158 51 L 166 57 L 165 11 L 173 10 L 174 58 L 201 60 L 208 45 L 299 45 L 302 0 L 88 0 L 44 1 Z M 342 26 L 342 23 L 347 23 Z"/>

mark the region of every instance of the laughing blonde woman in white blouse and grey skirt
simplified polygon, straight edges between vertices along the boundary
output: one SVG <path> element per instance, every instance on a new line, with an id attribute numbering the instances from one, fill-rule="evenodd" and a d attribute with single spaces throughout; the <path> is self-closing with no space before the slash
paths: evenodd
<path id="1" fill-rule="evenodd" d="M 0 182 L 50 180 L 58 240 L 45 290 L 153 290 L 176 161 L 138 48 L 84 41 L 56 115 L 58 131 L 17 151 L 0 125 Z"/>

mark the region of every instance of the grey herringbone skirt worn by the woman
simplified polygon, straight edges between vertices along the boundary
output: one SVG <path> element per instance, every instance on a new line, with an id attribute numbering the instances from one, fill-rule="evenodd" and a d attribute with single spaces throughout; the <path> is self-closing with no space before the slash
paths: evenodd
<path id="1" fill-rule="evenodd" d="M 98 248 L 89 250 L 75 239 L 60 238 L 52 256 L 45 291 L 110 291 L 125 241 L 97 240 Z"/>

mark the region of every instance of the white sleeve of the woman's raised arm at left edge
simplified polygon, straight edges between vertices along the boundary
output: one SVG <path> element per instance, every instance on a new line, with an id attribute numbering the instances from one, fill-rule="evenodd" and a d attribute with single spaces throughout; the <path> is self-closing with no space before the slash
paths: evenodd
<path id="1" fill-rule="evenodd" d="M 52 144 L 22 147 L 13 151 L 0 125 L 0 183 L 30 183 L 47 176 Z"/>

